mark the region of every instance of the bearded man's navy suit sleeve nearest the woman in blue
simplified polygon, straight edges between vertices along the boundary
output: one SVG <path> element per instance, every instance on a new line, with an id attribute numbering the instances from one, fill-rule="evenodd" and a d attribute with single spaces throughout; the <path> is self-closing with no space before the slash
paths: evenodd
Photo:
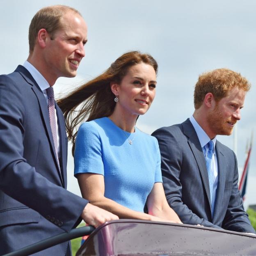
<path id="1" fill-rule="evenodd" d="M 183 157 L 181 142 L 177 139 L 178 134 L 171 133 L 168 128 L 160 128 L 152 135 L 158 139 L 163 186 L 169 206 L 173 208 L 184 224 L 200 224 L 221 229 L 219 226 L 194 214 L 182 201 L 182 184 L 179 177 L 182 171 Z"/>

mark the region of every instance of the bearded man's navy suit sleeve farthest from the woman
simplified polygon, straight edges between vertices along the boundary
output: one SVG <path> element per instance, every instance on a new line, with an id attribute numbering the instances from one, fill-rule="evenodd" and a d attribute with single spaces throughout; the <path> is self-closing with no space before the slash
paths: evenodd
<path id="1" fill-rule="evenodd" d="M 244 210 L 242 197 L 238 190 L 238 167 L 235 153 L 233 153 L 233 158 L 235 161 L 235 171 L 232 192 L 222 226 L 224 229 L 232 231 L 255 233 L 255 230 L 249 221 L 248 215 Z"/>

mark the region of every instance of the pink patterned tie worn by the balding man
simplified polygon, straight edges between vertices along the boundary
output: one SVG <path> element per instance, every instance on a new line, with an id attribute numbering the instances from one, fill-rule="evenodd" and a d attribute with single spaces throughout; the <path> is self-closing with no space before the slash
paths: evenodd
<path id="1" fill-rule="evenodd" d="M 49 117 L 50 117 L 50 126 L 51 126 L 51 130 L 52 130 L 52 134 L 53 134 L 55 154 L 57 156 L 57 162 L 58 162 L 58 166 L 59 166 L 57 128 L 56 128 L 56 119 L 55 119 L 55 102 L 54 102 L 53 87 L 47 88 L 46 93 L 48 96 L 48 111 L 49 111 Z"/>

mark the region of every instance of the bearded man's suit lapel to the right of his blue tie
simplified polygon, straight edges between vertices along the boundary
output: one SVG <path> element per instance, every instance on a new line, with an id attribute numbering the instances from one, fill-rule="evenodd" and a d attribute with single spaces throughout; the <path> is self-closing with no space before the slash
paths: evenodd
<path id="1" fill-rule="evenodd" d="M 216 141 L 215 151 L 217 154 L 217 161 L 218 161 L 218 187 L 217 187 L 217 194 L 215 199 L 215 206 L 214 206 L 214 213 L 213 213 L 213 223 L 215 220 L 219 218 L 219 214 L 222 214 L 222 211 L 219 210 L 222 208 L 224 189 L 225 189 L 225 182 L 226 182 L 226 175 L 225 175 L 225 165 L 226 161 L 224 158 L 223 153 L 221 152 L 221 144 Z"/>

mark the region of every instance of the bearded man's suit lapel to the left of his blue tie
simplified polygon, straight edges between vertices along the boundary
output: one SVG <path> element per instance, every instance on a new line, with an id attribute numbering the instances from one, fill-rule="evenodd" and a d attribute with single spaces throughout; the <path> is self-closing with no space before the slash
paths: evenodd
<path id="1" fill-rule="evenodd" d="M 190 122 L 190 120 L 187 119 L 184 123 L 182 123 L 182 125 L 183 125 L 184 134 L 188 137 L 187 142 L 188 142 L 190 149 L 194 155 L 194 158 L 197 162 L 197 166 L 198 166 L 199 172 L 201 174 L 203 186 L 205 188 L 206 195 L 208 198 L 209 207 L 211 208 L 209 179 L 208 179 L 208 173 L 207 173 L 207 169 L 206 169 L 206 160 L 203 155 L 201 144 L 199 142 L 197 133 L 194 130 L 194 127 L 192 126 L 192 123 Z"/>

